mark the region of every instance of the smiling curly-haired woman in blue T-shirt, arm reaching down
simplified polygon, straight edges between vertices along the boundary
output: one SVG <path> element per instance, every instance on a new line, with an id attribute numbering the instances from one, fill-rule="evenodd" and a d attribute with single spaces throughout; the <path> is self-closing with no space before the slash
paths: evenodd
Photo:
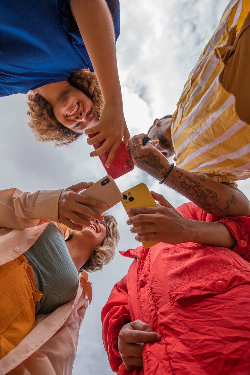
<path id="1" fill-rule="evenodd" d="M 91 156 L 110 149 L 107 166 L 129 139 L 115 54 L 119 15 L 118 0 L 1 2 L 0 96 L 32 91 L 30 126 L 41 141 L 99 133 L 88 144 L 105 139 Z"/>

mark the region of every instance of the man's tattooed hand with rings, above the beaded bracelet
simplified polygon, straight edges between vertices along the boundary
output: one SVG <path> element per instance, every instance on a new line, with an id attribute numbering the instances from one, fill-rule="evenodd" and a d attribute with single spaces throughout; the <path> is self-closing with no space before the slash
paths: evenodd
<path id="1" fill-rule="evenodd" d="M 142 133 L 130 138 L 129 152 L 136 166 L 157 178 L 157 180 L 161 180 L 168 171 L 170 164 L 165 156 L 154 147 L 159 143 L 157 139 L 151 139 L 145 146 L 142 145 L 142 139 L 147 136 L 147 134 Z"/>

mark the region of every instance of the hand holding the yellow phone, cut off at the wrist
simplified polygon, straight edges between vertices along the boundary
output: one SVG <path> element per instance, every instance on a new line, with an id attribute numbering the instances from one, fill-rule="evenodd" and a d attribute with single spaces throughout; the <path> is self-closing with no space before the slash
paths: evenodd
<path id="1" fill-rule="evenodd" d="M 132 233 L 139 242 L 163 242 L 176 245 L 189 242 L 190 223 L 161 195 L 151 191 L 153 198 L 159 202 L 158 207 L 142 207 L 127 210 L 127 214 L 135 215 L 127 220 L 127 224 L 147 223 L 147 225 L 132 226 Z M 144 234 L 149 233 L 149 234 Z"/>

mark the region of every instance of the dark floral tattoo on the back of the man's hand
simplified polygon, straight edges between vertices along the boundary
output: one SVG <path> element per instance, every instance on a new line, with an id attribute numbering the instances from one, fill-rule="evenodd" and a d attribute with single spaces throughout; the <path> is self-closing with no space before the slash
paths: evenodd
<path id="1" fill-rule="evenodd" d="M 143 169 L 145 172 L 151 174 L 156 178 L 162 178 L 168 169 L 165 168 L 160 162 L 160 156 L 154 156 L 151 152 L 148 155 L 143 155 L 141 157 L 135 157 L 137 165 L 139 168 Z"/>

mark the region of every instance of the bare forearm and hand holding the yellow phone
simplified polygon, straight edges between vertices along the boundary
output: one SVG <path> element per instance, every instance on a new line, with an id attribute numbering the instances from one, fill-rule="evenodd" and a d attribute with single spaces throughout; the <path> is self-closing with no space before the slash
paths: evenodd
<path id="1" fill-rule="evenodd" d="M 128 225 L 147 223 L 130 229 L 132 233 L 140 233 L 135 237 L 137 241 L 171 245 L 194 242 L 228 249 L 235 247 L 237 241 L 223 223 L 194 220 L 191 215 L 190 218 L 184 217 L 161 194 L 151 193 L 160 206 L 127 210 L 129 215 L 135 215 L 127 220 Z"/>

